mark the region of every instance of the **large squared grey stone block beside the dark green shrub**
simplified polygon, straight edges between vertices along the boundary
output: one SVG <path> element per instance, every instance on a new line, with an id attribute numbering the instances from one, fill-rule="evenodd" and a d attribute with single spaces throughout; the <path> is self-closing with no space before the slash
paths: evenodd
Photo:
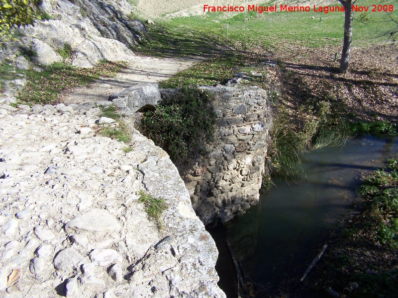
<path id="1" fill-rule="evenodd" d="M 118 108 L 127 107 L 132 112 L 137 112 L 147 106 L 155 106 L 160 99 L 159 85 L 157 83 L 132 86 L 108 97 L 108 100 L 111 100 Z"/>

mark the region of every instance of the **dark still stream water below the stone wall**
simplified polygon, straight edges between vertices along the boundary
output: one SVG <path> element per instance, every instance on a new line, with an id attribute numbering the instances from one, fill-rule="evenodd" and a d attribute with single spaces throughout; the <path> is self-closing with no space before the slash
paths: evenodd
<path id="1" fill-rule="evenodd" d="M 276 182 L 244 216 L 209 228 L 220 252 L 219 286 L 227 297 L 236 297 L 227 240 L 254 283 L 276 287 L 300 278 L 339 223 L 355 213 L 361 173 L 384 167 L 397 153 L 397 138 L 373 136 L 347 140 L 342 148 L 312 150 L 304 156 L 299 184 Z"/>

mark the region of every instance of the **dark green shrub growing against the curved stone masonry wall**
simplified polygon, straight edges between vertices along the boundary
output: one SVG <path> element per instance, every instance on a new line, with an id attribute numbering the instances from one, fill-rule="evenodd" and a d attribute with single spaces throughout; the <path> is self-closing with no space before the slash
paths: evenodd
<path id="1" fill-rule="evenodd" d="M 215 122 L 210 95 L 196 87 L 183 87 L 165 96 L 155 111 L 146 112 L 141 128 L 181 170 L 205 153 Z"/>

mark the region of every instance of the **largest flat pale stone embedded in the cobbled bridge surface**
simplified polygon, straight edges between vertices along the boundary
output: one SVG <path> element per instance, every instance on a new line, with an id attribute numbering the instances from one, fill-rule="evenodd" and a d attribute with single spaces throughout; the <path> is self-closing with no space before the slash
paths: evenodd
<path id="1" fill-rule="evenodd" d="M 65 230 L 87 230 L 95 232 L 120 230 L 119 222 L 106 210 L 92 209 L 84 215 L 75 217 L 65 225 Z"/>

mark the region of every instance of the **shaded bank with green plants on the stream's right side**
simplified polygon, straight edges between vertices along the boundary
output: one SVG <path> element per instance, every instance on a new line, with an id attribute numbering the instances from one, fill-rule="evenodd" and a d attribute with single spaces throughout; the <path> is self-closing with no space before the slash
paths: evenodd
<path id="1" fill-rule="evenodd" d="M 331 287 L 340 297 L 396 297 L 398 293 L 398 160 L 389 169 L 363 175 L 358 194 L 361 212 L 348 218 L 298 291 L 325 293 Z M 357 289 L 350 289 L 357 283 Z"/>

